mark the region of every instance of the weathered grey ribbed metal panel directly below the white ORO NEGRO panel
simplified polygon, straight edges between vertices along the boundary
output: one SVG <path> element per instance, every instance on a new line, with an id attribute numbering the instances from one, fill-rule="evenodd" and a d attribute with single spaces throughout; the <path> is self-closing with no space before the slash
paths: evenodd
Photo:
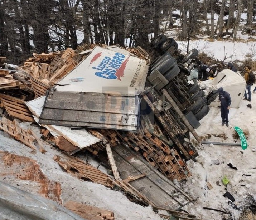
<path id="1" fill-rule="evenodd" d="M 39 123 L 136 131 L 137 97 L 51 91 Z"/>

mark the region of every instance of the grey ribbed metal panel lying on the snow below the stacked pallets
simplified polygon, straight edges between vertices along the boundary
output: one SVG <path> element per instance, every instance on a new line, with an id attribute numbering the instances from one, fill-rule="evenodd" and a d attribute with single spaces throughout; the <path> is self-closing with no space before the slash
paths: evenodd
<path id="1" fill-rule="evenodd" d="M 178 210 L 193 200 L 127 147 L 113 147 L 112 153 L 121 179 L 146 174 L 129 183 L 156 206 Z"/>

